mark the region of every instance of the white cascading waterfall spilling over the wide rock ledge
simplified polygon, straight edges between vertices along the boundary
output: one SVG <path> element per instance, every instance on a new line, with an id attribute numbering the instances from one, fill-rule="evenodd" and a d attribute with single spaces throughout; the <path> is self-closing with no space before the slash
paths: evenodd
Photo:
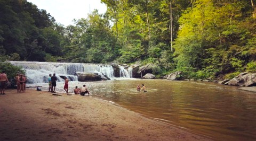
<path id="1" fill-rule="evenodd" d="M 64 80 L 60 76 L 67 76 L 70 81 L 77 81 L 76 72 L 88 72 L 104 74 L 110 79 L 116 78 L 114 76 L 114 68 L 111 65 L 105 64 L 83 64 L 83 63 L 51 63 L 51 62 L 37 62 L 37 61 L 10 61 L 12 65 L 21 66 L 26 70 L 28 83 L 47 83 L 49 74 L 55 73 L 58 82 Z M 119 66 L 120 76 L 122 78 L 130 78 L 129 72 L 124 67 Z"/>

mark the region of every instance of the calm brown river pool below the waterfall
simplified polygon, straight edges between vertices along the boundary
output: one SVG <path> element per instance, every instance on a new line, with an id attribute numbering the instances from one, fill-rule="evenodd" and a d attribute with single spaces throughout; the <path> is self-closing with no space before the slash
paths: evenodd
<path id="1" fill-rule="evenodd" d="M 214 140 L 256 140 L 256 93 L 210 82 L 118 80 L 86 84 L 94 98 Z M 137 92 L 145 84 L 147 92 Z M 45 84 L 46 86 L 47 84 Z M 62 89 L 63 83 L 57 87 Z M 84 98 L 84 97 L 83 97 Z"/>

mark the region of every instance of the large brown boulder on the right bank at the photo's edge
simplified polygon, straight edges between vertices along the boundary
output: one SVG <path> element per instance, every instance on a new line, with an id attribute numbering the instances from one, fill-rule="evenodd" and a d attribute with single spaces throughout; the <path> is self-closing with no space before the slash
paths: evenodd
<path id="1" fill-rule="evenodd" d="M 234 77 L 226 85 L 233 86 L 255 86 L 256 85 L 256 74 L 255 73 L 241 73 Z"/>

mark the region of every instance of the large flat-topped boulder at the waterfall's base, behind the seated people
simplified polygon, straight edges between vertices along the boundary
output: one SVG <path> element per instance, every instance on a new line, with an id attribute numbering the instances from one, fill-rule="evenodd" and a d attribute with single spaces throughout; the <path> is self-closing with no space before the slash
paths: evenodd
<path id="1" fill-rule="evenodd" d="M 102 78 L 97 74 L 86 73 L 86 72 L 76 72 L 75 75 L 78 78 L 78 81 L 101 81 Z"/>

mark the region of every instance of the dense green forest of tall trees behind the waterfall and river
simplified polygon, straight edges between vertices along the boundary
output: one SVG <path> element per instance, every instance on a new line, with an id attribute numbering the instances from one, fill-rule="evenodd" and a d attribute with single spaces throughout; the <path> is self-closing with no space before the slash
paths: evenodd
<path id="1" fill-rule="evenodd" d="M 163 76 L 256 72 L 255 0 L 101 0 L 65 27 L 26 0 L 0 0 L 0 60 L 154 64 Z"/>

